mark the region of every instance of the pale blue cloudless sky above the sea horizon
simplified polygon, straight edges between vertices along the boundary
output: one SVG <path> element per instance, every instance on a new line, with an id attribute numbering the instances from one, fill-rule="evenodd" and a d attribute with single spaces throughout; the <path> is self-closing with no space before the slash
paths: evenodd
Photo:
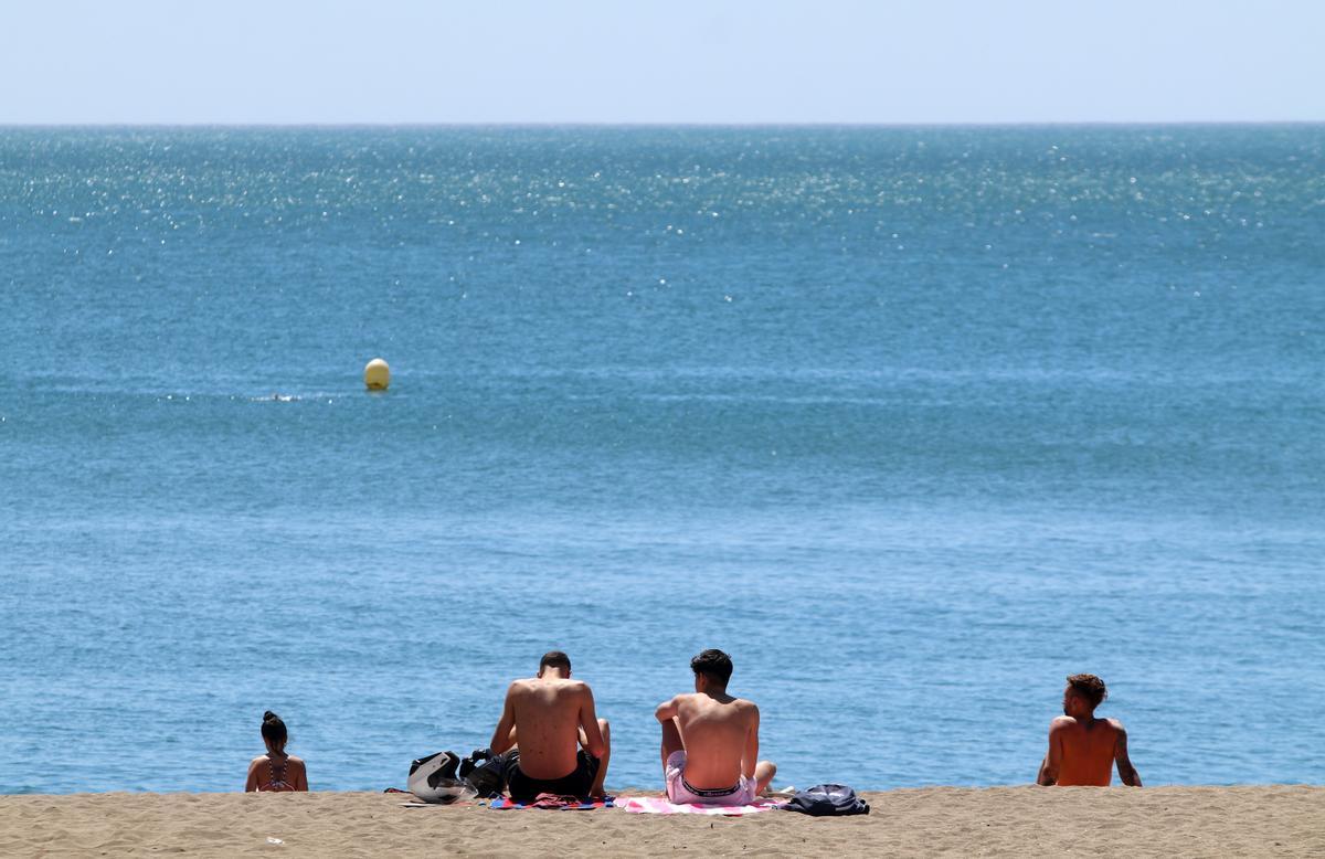
<path id="1" fill-rule="evenodd" d="M 1325 121 L 1325 0 L 0 0 L 0 123 Z"/>

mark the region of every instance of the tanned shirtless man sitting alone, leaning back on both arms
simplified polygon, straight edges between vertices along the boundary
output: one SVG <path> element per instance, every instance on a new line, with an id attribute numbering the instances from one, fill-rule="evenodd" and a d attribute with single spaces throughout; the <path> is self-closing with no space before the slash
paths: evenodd
<path id="1" fill-rule="evenodd" d="M 1041 785 L 1108 787 L 1114 762 L 1124 785 L 1141 786 L 1128 758 L 1128 732 L 1117 718 L 1096 718 L 1094 708 L 1108 697 L 1104 680 L 1072 675 L 1063 691 L 1063 716 L 1049 722 L 1049 753 L 1040 764 Z"/>

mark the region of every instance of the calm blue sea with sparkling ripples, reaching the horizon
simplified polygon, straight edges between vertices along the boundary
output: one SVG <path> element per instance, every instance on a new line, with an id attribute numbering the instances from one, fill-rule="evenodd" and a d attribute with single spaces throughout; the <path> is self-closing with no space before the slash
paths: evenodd
<path id="1" fill-rule="evenodd" d="M 779 785 L 1077 671 L 1320 782 L 1322 236 L 1325 126 L 0 129 L 0 791 L 403 786 L 554 647 L 610 786 L 705 647 Z"/>

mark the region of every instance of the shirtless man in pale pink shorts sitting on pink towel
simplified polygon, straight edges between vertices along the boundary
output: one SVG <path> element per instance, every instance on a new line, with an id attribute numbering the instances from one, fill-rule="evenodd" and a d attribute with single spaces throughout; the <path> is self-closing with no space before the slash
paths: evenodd
<path id="1" fill-rule="evenodd" d="M 676 803 L 749 805 L 778 768 L 759 757 L 759 708 L 727 695 L 731 658 L 706 650 L 690 660 L 694 695 L 659 704 L 662 774 Z"/>

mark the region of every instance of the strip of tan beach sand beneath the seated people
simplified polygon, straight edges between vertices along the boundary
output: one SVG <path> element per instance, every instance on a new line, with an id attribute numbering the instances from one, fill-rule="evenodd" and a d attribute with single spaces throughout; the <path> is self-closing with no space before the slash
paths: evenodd
<path id="1" fill-rule="evenodd" d="M 835 819 L 401 807 L 408 798 L 5 795 L 0 855 L 1325 855 L 1325 787 L 892 790 L 865 794 L 868 817 Z"/>

